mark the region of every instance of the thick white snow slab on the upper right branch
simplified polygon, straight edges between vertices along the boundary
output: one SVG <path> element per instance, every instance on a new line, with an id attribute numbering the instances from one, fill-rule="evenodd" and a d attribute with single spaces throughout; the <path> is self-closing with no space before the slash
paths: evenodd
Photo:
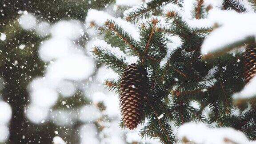
<path id="1" fill-rule="evenodd" d="M 256 14 L 237 13 L 235 11 L 211 10 L 208 20 L 215 22 L 219 28 L 204 40 L 201 53 L 228 51 L 243 46 L 244 43 L 255 41 Z"/>

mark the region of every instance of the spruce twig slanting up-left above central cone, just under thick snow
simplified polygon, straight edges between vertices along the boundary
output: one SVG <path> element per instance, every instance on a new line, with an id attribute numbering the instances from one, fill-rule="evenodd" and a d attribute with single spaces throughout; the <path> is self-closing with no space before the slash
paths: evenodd
<path id="1" fill-rule="evenodd" d="M 138 56 L 141 55 L 140 52 L 138 51 L 139 45 L 136 42 L 136 40 L 134 40 L 132 36 L 130 36 L 127 32 L 124 32 L 124 30 L 118 25 L 116 25 L 114 21 L 108 20 L 105 23 L 105 25 L 111 32 L 116 34 L 120 38 L 120 40 L 124 41 L 124 43 L 127 44 L 128 47 L 130 47 L 134 52 L 136 52 Z"/>

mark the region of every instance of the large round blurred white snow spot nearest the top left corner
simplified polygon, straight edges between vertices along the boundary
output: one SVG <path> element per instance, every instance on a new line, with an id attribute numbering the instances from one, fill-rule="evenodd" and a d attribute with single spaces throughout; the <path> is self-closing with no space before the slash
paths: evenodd
<path id="1" fill-rule="evenodd" d="M 20 16 L 19 24 L 25 30 L 32 30 L 36 27 L 36 17 L 31 13 L 23 14 Z"/>

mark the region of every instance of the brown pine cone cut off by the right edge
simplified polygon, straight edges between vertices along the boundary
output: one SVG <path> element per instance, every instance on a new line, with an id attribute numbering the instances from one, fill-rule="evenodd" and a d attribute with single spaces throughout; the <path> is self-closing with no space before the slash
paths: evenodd
<path id="1" fill-rule="evenodd" d="M 256 44 L 248 45 L 244 56 L 244 78 L 247 84 L 256 75 Z"/>

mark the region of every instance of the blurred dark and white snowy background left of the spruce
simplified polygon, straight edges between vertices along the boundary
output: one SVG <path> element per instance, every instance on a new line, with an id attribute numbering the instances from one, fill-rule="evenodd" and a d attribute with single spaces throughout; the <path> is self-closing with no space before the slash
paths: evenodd
<path id="1" fill-rule="evenodd" d="M 97 38 L 89 9 L 113 0 L 0 0 L 0 144 L 136 144 L 125 131 L 118 97 L 103 83 L 112 70 L 90 55 Z"/>

